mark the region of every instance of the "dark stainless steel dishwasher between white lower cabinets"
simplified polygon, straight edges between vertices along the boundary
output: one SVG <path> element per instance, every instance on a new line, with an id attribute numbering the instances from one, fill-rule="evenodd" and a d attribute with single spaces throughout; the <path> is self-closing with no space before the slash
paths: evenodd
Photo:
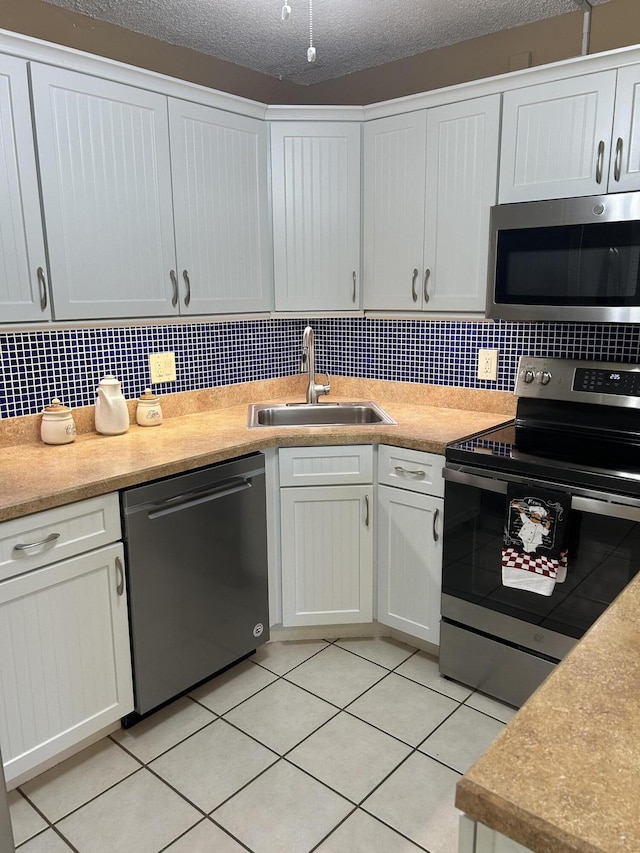
<path id="1" fill-rule="evenodd" d="M 243 456 L 122 492 L 135 713 L 268 639 L 264 457 Z"/>

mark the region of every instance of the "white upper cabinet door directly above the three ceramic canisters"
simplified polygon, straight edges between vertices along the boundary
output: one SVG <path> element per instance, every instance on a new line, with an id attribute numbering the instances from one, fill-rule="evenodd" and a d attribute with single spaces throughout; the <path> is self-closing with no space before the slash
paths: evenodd
<path id="1" fill-rule="evenodd" d="M 163 95 L 32 66 L 58 320 L 177 312 Z"/>

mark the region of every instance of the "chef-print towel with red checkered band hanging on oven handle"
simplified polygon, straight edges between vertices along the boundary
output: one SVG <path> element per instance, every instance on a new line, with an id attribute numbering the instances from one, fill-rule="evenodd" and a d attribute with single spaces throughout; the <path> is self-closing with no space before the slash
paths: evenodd
<path id="1" fill-rule="evenodd" d="M 504 586 L 551 595 L 567 577 L 571 495 L 509 483 L 502 539 Z"/>

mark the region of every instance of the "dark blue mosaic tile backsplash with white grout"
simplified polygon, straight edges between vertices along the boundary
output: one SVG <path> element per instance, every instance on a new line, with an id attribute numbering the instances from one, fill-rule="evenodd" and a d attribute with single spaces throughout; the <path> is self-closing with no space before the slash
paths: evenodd
<path id="1" fill-rule="evenodd" d="M 521 354 L 640 360 L 640 325 L 382 320 L 310 321 L 319 373 L 511 391 Z M 303 319 L 51 329 L 0 333 L 0 416 L 42 411 L 54 397 L 92 405 L 102 376 L 134 398 L 149 385 L 148 355 L 172 350 L 177 381 L 158 393 L 272 379 L 300 367 Z M 498 349 L 498 381 L 476 379 L 476 352 Z"/>

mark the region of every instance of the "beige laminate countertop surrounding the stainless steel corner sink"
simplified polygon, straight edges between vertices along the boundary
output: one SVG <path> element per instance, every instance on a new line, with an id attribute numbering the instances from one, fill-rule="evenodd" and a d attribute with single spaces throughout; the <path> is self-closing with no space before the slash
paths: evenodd
<path id="1" fill-rule="evenodd" d="M 299 377 L 291 378 L 292 387 L 286 382 L 247 383 L 215 399 L 198 392 L 174 395 L 178 402 L 163 398 L 160 426 L 139 427 L 133 416 L 129 431 L 117 436 L 98 435 L 87 420 L 89 412 L 79 410 L 79 434 L 66 445 L 38 440 L 39 416 L 24 419 L 23 432 L 19 425 L 0 421 L 0 438 L 3 427 L 12 432 L 0 442 L 0 521 L 274 446 L 388 443 L 443 453 L 448 443 L 513 416 L 511 395 L 500 392 L 340 378 L 332 383 L 335 391 L 324 399 L 373 399 L 397 426 L 248 429 L 249 402 L 304 399 Z M 491 406 L 497 411 L 480 410 Z M 193 408 L 204 410 L 180 414 Z"/>

